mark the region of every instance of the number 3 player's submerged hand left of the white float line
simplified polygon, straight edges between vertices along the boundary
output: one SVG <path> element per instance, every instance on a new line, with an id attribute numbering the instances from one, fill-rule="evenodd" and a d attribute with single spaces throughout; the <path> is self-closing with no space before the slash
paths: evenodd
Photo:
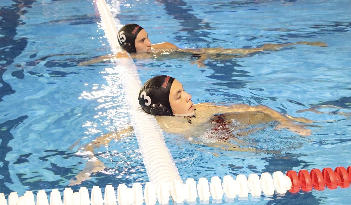
<path id="1" fill-rule="evenodd" d="M 90 175 L 92 173 L 102 171 L 105 168 L 106 168 L 105 164 L 102 163 L 96 157 L 94 157 L 93 159 L 89 160 L 86 163 L 85 168 L 81 172 L 79 172 L 74 178 L 69 180 L 69 184 L 68 185 L 69 186 L 74 186 L 74 185 L 81 184 L 85 180 L 91 179 Z"/>

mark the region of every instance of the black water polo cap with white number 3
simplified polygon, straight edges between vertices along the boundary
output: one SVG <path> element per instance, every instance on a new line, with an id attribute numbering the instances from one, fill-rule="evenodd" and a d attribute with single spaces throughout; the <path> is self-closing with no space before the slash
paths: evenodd
<path id="1" fill-rule="evenodd" d="M 173 116 L 170 104 L 170 90 L 174 78 L 167 75 L 155 76 L 141 87 L 139 104 L 151 115 Z"/>

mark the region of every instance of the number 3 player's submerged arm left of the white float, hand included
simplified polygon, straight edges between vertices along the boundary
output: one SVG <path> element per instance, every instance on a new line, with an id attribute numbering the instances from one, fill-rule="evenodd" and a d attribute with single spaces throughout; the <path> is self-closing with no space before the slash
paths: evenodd
<path id="1" fill-rule="evenodd" d="M 104 170 L 106 167 L 94 154 L 94 149 L 100 146 L 107 145 L 112 139 L 119 140 L 126 135 L 133 132 L 132 127 L 119 130 L 118 132 L 111 132 L 105 135 L 101 135 L 95 138 L 93 142 L 80 147 L 78 150 L 88 156 L 90 159 L 86 162 L 85 168 L 80 171 L 75 178 L 72 178 L 69 182 L 69 186 L 81 184 L 83 181 L 91 179 L 90 175 L 95 172 Z"/>

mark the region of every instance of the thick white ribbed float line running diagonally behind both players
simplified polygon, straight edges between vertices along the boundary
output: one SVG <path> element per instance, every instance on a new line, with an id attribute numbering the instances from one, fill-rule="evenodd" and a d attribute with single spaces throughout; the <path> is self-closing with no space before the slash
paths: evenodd
<path id="1" fill-rule="evenodd" d="M 95 0 L 95 2 L 101 16 L 102 28 L 115 54 L 121 51 L 117 38 L 118 30 L 116 24 L 105 0 Z M 157 189 L 161 186 L 161 182 L 170 182 L 170 186 L 174 180 L 181 182 L 178 169 L 173 162 L 170 151 L 165 145 L 163 132 L 159 128 L 156 119 L 152 115 L 146 114 L 139 105 L 139 100 L 136 96 L 139 94 L 141 82 L 133 60 L 121 58 L 118 59 L 118 62 L 119 66 L 116 66 L 114 69 L 123 76 L 123 90 L 129 105 L 128 110 L 130 112 L 132 126 L 138 140 L 139 150 L 143 156 L 150 182 L 152 182 Z M 150 142 L 159 143 L 151 144 Z M 144 150 L 147 150 L 147 154 Z M 160 150 L 163 151 L 160 152 Z M 170 189 L 171 187 L 169 187 L 167 191 Z"/>

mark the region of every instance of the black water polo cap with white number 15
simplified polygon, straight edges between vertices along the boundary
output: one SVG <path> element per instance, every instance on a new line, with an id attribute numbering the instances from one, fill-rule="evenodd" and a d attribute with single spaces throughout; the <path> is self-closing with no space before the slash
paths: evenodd
<path id="1" fill-rule="evenodd" d="M 138 24 L 127 24 L 123 26 L 118 32 L 118 42 L 119 45 L 128 53 L 135 53 L 137 49 L 135 48 L 135 39 L 138 33 L 143 30 Z"/>

